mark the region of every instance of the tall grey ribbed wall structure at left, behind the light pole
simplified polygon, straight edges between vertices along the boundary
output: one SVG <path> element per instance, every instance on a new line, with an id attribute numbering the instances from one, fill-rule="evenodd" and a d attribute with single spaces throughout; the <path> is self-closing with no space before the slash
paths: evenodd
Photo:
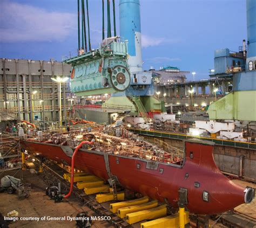
<path id="1" fill-rule="evenodd" d="M 70 77 L 70 73 L 70 65 L 53 59 L 1 59 L 2 121 L 8 115 L 16 121 L 38 122 L 42 128 L 58 122 L 59 86 L 51 78 L 56 75 Z M 63 120 L 66 122 L 72 94 L 68 83 L 61 86 Z"/>

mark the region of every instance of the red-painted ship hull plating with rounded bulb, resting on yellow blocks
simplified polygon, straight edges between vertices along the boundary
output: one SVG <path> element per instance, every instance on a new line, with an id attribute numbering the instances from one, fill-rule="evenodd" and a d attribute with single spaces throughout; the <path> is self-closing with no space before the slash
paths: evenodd
<path id="1" fill-rule="evenodd" d="M 22 141 L 22 144 L 32 153 L 71 164 L 71 157 L 66 155 L 63 147 L 33 141 Z M 245 203 L 245 189 L 226 178 L 215 165 L 213 145 L 188 141 L 185 148 L 182 167 L 158 163 L 157 168 L 150 169 L 146 168 L 150 161 L 109 154 L 109 171 L 124 188 L 161 202 L 167 200 L 175 208 L 178 207 L 178 190 L 185 188 L 186 207 L 198 215 L 222 213 Z M 109 172 L 105 161 L 103 152 L 82 149 L 77 153 L 75 167 L 106 180 Z M 208 202 L 203 200 L 204 191 L 208 192 Z"/>

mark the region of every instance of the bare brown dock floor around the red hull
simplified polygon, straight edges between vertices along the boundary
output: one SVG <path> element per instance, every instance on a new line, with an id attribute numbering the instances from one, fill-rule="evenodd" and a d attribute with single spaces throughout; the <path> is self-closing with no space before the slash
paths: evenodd
<path id="1" fill-rule="evenodd" d="M 14 175 L 14 171 L 5 172 L 5 175 Z M 0 179 L 3 177 L 0 176 Z M 19 176 L 16 176 L 19 178 Z M 87 211 L 90 216 L 98 216 L 87 206 L 84 206 L 75 197 L 70 197 L 68 201 L 62 203 L 55 203 L 49 196 L 45 195 L 46 183 L 43 181 L 42 174 L 31 174 L 29 170 L 23 171 L 23 183 L 31 183 L 32 190 L 28 199 L 19 199 L 17 194 L 9 195 L 6 192 L 0 194 L 0 212 L 6 216 L 8 212 L 16 210 L 19 212 L 19 217 L 44 217 L 46 220 L 31 221 L 31 220 L 18 220 L 9 224 L 9 227 L 76 227 L 75 220 L 69 221 L 68 216 L 76 217 L 78 212 Z M 252 186 L 256 188 L 256 184 L 233 180 L 235 183 L 242 186 Z M 104 203 L 103 206 L 108 208 L 109 202 Z M 251 204 L 242 204 L 235 208 L 240 213 L 247 213 L 251 217 L 256 217 L 256 201 Z M 57 218 L 66 217 L 65 220 L 48 220 L 47 217 Z M 145 221 L 144 221 L 145 222 Z M 211 221 L 211 225 L 214 222 Z M 114 227 L 104 220 L 94 220 L 92 227 Z M 140 227 L 139 224 L 134 224 L 134 227 Z M 214 227 L 226 227 L 222 224 L 215 224 Z"/>

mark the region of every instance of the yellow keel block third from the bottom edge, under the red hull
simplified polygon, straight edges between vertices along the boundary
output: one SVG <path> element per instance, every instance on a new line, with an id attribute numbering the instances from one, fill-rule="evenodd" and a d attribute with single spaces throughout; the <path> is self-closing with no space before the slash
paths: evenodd
<path id="1" fill-rule="evenodd" d="M 127 206 L 126 208 L 120 208 L 117 211 L 117 215 L 120 218 L 125 218 L 127 214 L 132 213 L 132 212 L 137 212 L 137 211 L 143 211 L 146 209 L 151 209 L 151 208 L 156 208 L 158 206 L 157 201 L 151 201 L 139 205 L 134 205 L 134 206 Z"/>

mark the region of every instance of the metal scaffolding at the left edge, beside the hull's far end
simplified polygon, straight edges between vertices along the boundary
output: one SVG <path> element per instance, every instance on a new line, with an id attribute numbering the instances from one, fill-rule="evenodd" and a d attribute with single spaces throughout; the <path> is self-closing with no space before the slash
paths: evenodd
<path id="1" fill-rule="evenodd" d="M 0 134 L 0 174 L 22 170 L 21 143 L 15 134 Z"/>

